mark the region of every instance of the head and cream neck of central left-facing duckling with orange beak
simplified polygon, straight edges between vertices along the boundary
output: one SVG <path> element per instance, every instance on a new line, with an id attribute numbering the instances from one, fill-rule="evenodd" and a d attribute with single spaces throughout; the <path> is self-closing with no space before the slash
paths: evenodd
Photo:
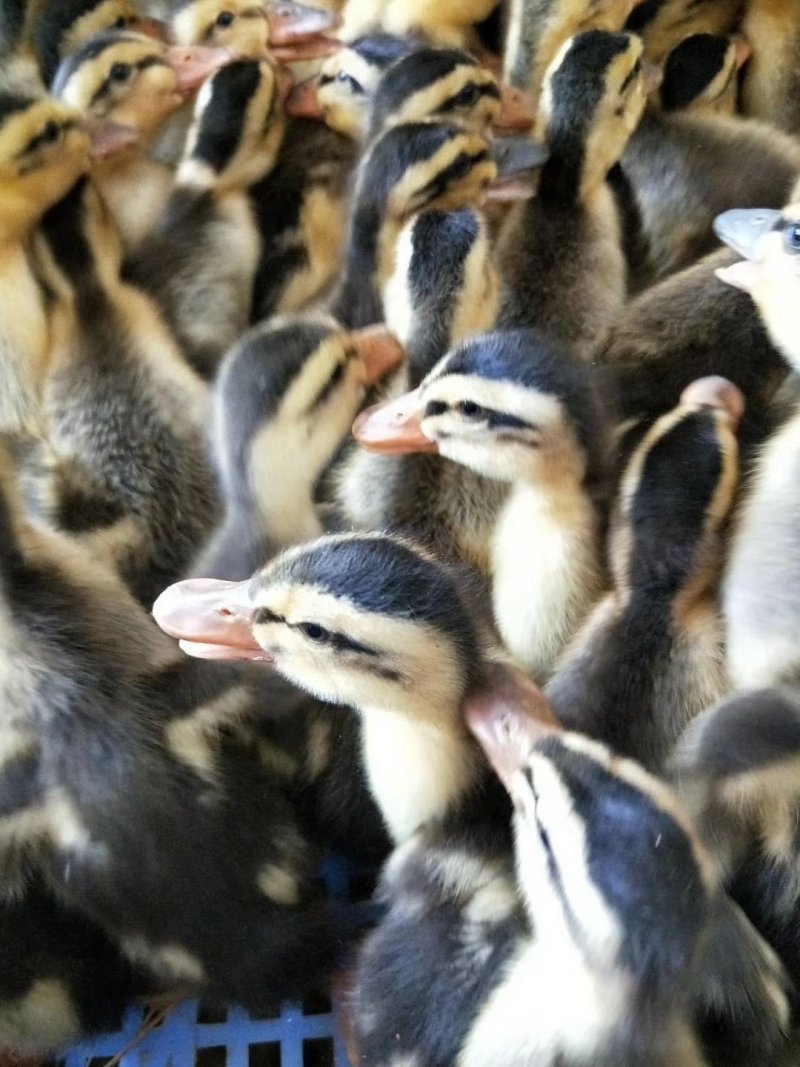
<path id="1" fill-rule="evenodd" d="M 495 622 L 544 680 L 603 589 L 605 442 L 588 368 L 532 331 L 487 334 L 353 432 L 368 448 L 437 451 L 511 484 L 491 536 Z"/>

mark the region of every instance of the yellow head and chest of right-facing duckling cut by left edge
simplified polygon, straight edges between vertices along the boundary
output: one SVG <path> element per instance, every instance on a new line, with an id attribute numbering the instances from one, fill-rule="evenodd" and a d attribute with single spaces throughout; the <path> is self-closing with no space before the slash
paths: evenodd
<path id="1" fill-rule="evenodd" d="M 89 165 L 78 115 L 51 98 L 0 97 L 0 430 L 41 431 L 47 366 L 45 294 L 27 244 L 39 219 Z"/>

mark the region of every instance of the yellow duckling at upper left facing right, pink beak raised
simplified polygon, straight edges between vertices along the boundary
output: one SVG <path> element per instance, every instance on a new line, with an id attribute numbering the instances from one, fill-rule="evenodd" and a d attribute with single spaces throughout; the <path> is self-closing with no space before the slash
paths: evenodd
<path id="1" fill-rule="evenodd" d="M 150 159 L 148 146 L 169 116 L 229 59 L 221 50 L 167 49 L 138 34 L 110 31 L 93 36 L 57 70 L 54 96 L 91 118 L 137 131 L 135 145 L 93 171 L 126 251 L 153 229 L 172 187 L 172 170 Z"/>

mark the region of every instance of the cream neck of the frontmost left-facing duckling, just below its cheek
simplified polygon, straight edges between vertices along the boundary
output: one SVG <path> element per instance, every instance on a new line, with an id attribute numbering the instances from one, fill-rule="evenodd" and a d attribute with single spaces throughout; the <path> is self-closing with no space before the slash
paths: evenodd
<path id="1" fill-rule="evenodd" d="M 394 842 L 444 819 L 480 775 L 480 760 L 458 712 L 431 722 L 386 708 L 362 710 L 370 792 Z"/>

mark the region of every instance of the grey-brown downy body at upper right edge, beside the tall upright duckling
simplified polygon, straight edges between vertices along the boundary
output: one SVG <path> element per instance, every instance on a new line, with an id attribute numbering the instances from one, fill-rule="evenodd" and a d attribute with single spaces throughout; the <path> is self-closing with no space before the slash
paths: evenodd
<path id="1" fill-rule="evenodd" d="M 709 68 L 698 73 L 707 77 Z M 641 289 L 715 251 L 713 224 L 722 211 L 787 203 L 800 145 L 756 120 L 651 107 L 622 168 L 647 245 Z"/>

